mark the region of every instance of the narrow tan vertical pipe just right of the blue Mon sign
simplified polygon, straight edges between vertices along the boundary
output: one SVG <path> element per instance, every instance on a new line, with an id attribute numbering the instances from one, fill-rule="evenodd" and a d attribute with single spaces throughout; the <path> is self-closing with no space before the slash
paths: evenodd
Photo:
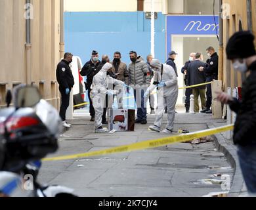
<path id="1" fill-rule="evenodd" d="M 219 0 L 219 80 L 223 81 L 223 0 Z"/>

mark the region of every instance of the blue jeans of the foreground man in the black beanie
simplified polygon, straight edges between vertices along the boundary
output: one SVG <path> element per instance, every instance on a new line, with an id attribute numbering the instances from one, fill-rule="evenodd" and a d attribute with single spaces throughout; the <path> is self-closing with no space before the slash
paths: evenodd
<path id="1" fill-rule="evenodd" d="M 238 158 L 247 190 L 256 194 L 256 142 L 238 146 Z"/>

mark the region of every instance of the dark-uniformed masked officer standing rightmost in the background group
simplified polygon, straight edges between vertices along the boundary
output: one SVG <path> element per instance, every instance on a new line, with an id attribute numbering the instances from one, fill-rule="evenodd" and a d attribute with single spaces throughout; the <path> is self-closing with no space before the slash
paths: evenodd
<path id="1" fill-rule="evenodd" d="M 200 67 L 200 72 L 205 72 L 206 82 L 211 82 L 213 79 L 218 79 L 218 68 L 219 68 L 219 56 L 215 52 L 215 49 L 213 47 L 208 47 L 206 49 L 207 55 L 211 57 L 209 61 L 207 62 L 207 65 L 205 67 Z M 206 108 L 201 111 L 201 113 L 211 114 L 211 102 L 212 102 L 212 94 L 211 94 L 211 84 L 206 85 L 207 91 L 206 91 Z"/>

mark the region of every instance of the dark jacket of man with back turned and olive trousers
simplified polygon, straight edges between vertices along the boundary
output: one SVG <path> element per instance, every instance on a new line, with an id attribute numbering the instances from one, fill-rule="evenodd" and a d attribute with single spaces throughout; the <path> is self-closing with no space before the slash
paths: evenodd
<path id="1" fill-rule="evenodd" d="M 206 78 L 204 72 L 200 72 L 200 70 L 198 70 L 198 68 L 200 68 L 201 66 L 205 66 L 205 63 L 201 62 L 200 60 L 194 60 L 193 62 L 188 64 L 188 86 L 205 83 Z M 198 88 L 205 89 L 206 86 L 202 85 Z"/>

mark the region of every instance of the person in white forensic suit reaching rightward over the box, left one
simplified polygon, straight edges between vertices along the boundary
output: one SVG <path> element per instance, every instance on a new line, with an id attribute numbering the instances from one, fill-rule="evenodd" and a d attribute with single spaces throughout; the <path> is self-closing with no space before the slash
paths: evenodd
<path id="1" fill-rule="evenodd" d="M 102 115 L 104 104 L 106 104 L 106 94 L 114 95 L 113 90 L 108 90 L 108 85 L 123 85 L 127 87 L 122 81 L 110 77 L 110 70 L 112 70 L 112 64 L 107 62 L 100 72 L 93 77 L 93 84 L 91 85 L 91 98 L 93 98 L 93 108 L 95 109 L 95 133 L 108 132 L 108 129 L 102 127 Z"/>

